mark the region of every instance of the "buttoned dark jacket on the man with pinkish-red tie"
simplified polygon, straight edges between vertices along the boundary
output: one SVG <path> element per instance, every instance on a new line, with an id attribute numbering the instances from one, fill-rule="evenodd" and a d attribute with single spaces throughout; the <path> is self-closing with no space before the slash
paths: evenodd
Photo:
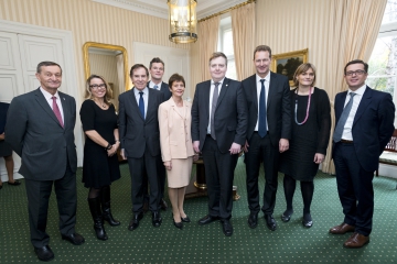
<path id="1" fill-rule="evenodd" d="M 40 89 L 12 99 L 6 124 L 6 141 L 22 158 L 19 170 L 28 179 L 55 180 L 65 175 L 68 162 L 77 168 L 74 127 L 76 101 L 58 91 L 64 127 L 57 121 Z"/>

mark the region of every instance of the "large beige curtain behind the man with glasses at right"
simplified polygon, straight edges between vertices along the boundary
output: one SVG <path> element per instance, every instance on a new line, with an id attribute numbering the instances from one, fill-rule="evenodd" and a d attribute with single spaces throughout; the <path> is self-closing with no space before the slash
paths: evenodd
<path id="1" fill-rule="evenodd" d="M 331 161 L 332 135 L 335 127 L 333 100 L 337 92 L 347 89 L 343 78 L 343 68 L 352 59 L 367 62 L 374 48 L 380 28 L 387 0 L 333 0 L 331 1 L 329 47 L 324 54 L 329 65 L 326 85 L 332 101 L 332 132 L 325 161 L 324 173 L 334 174 L 335 167 Z"/>

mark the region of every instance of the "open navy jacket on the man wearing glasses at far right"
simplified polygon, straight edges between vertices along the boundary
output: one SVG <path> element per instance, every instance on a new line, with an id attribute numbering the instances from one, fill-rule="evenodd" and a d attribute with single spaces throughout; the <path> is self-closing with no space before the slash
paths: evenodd
<path id="1" fill-rule="evenodd" d="M 343 112 L 347 91 L 335 96 L 335 123 Z M 395 130 L 395 106 L 390 94 L 365 89 L 354 117 L 352 134 L 360 165 L 367 172 L 378 168 L 379 155 Z M 332 155 L 333 157 L 334 155 Z"/>

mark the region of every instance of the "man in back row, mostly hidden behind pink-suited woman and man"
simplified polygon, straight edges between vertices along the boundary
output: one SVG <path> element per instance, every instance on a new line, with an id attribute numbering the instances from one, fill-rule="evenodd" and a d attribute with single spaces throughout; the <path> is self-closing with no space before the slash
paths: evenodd
<path id="1" fill-rule="evenodd" d="M 171 98 L 171 91 L 168 84 L 162 81 L 162 77 L 164 75 L 164 62 L 161 61 L 159 57 L 152 58 L 149 65 L 149 72 L 151 76 L 151 80 L 148 82 L 148 87 L 154 90 L 160 90 L 164 94 L 164 100 Z M 168 205 L 164 200 L 164 186 L 165 186 L 165 167 L 163 166 L 160 169 L 160 207 L 162 210 L 167 210 Z M 148 195 L 148 176 L 144 176 L 143 179 L 143 195 L 144 195 L 144 204 L 143 210 L 148 210 L 149 205 L 149 195 Z"/>

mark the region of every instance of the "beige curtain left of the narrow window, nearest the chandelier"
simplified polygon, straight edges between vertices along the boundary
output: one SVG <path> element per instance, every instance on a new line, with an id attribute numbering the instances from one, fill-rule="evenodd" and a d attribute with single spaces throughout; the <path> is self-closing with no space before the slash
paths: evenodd
<path id="1" fill-rule="evenodd" d="M 216 15 L 212 19 L 198 23 L 198 46 L 200 46 L 200 72 L 201 81 L 211 78 L 208 70 L 208 61 L 211 55 L 217 50 L 217 41 L 219 34 L 221 16 Z"/>

